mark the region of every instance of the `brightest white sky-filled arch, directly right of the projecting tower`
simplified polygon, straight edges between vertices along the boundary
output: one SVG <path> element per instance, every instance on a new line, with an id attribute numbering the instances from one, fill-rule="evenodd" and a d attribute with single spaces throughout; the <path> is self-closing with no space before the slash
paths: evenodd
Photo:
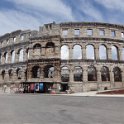
<path id="1" fill-rule="evenodd" d="M 69 48 L 67 45 L 63 45 L 61 47 L 61 59 L 68 60 L 69 59 Z"/>

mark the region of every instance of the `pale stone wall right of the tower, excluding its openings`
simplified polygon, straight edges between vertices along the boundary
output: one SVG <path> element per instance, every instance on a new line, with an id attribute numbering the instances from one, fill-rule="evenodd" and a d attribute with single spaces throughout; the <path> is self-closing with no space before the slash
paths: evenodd
<path id="1" fill-rule="evenodd" d="M 79 30 L 79 35 L 75 35 L 75 30 Z M 92 30 L 92 35 L 87 34 L 87 30 Z M 67 35 L 63 36 L 63 30 L 67 30 Z M 100 30 L 104 30 L 104 35 L 100 36 Z M 112 31 L 115 31 L 115 36 L 112 36 Z M 62 60 L 61 67 L 68 67 L 70 72 L 69 85 L 75 92 L 104 90 L 124 87 L 124 27 L 119 25 L 109 25 L 103 23 L 62 23 L 61 24 L 61 46 L 68 46 L 69 59 Z M 73 49 L 75 45 L 81 46 L 82 58 L 73 59 Z M 94 47 L 95 58 L 87 59 L 86 47 L 92 45 Z M 107 58 L 100 59 L 99 48 L 104 45 L 107 50 Z M 111 47 L 115 46 L 118 52 L 118 59 L 112 59 Z M 88 67 L 93 65 L 96 68 L 97 81 L 88 81 Z M 80 66 L 83 69 L 82 81 L 74 81 L 74 67 Z M 106 66 L 109 69 L 110 81 L 102 81 L 101 68 Z M 119 67 L 121 69 L 122 81 L 115 82 L 113 69 Z"/>

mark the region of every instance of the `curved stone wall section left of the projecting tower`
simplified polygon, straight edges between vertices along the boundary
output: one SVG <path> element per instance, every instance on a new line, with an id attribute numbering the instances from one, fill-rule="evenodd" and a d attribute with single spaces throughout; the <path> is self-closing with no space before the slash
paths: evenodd
<path id="1" fill-rule="evenodd" d="M 0 38 L 0 84 L 25 81 L 31 31 L 15 31 Z M 13 57 L 12 57 L 13 56 Z M 20 56 L 20 57 L 19 57 Z"/>

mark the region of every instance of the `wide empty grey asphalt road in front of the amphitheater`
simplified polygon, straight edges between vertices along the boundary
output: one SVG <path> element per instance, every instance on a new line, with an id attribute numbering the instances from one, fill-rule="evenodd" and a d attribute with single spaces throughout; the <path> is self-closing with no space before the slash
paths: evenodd
<path id="1" fill-rule="evenodd" d="M 124 98 L 0 95 L 0 124 L 124 124 Z"/>

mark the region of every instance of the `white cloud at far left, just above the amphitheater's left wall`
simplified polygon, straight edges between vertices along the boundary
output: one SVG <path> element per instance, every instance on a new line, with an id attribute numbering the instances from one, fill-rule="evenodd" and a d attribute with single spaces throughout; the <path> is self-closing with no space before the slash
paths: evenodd
<path id="1" fill-rule="evenodd" d="M 1 11 L 0 12 L 0 35 L 18 29 L 37 29 L 39 21 L 25 13 L 19 11 Z"/>

